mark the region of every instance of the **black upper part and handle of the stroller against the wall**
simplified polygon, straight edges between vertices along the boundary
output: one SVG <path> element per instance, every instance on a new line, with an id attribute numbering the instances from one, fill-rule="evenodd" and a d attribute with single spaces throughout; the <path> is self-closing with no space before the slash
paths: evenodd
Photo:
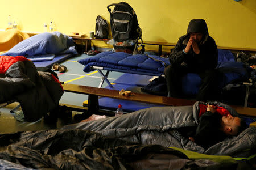
<path id="1" fill-rule="evenodd" d="M 110 6 L 115 6 L 111 12 Z M 133 8 L 126 2 L 108 5 L 110 13 L 110 25 L 112 38 L 117 42 L 141 39 L 141 28 L 139 28 L 137 15 Z"/>

